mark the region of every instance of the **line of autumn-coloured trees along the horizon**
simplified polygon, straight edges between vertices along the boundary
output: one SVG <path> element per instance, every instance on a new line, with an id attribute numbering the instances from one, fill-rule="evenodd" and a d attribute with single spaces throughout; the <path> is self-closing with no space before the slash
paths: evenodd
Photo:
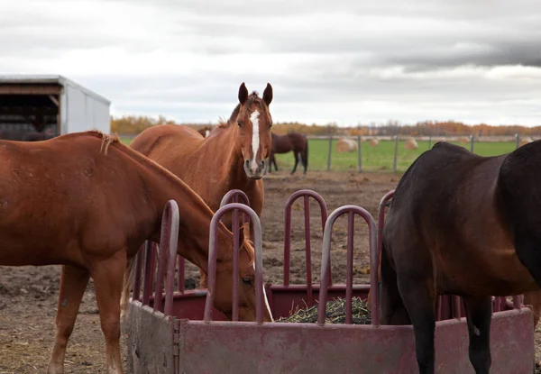
<path id="1" fill-rule="evenodd" d="M 163 115 L 157 118 L 144 115 L 113 116 L 111 118 L 111 132 L 130 135 L 138 134 L 143 130 L 159 124 L 174 124 L 175 121 L 167 119 Z M 212 123 L 178 123 L 188 125 L 196 130 L 207 126 L 214 126 Z M 274 123 L 272 132 L 284 134 L 287 132 L 300 132 L 307 135 L 372 135 L 372 136 L 512 136 L 516 133 L 521 135 L 541 134 L 541 125 L 526 127 L 522 125 L 490 125 L 479 123 L 468 125 L 457 121 L 424 121 L 415 124 L 402 124 L 398 121 L 387 123 L 357 124 L 354 126 L 338 127 L 336 123 L 317 125 L 315 123 Z"/>

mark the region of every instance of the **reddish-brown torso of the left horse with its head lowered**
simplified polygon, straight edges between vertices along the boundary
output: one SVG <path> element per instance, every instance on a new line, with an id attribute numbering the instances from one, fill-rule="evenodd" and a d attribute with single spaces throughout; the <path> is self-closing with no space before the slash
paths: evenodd
<path id="1" fill-rule="evenodd" d="M 99 135 L 87 133 L 0 141 L 0 262 L 83 266 L 82 247 L 105 251 L 137 242 L 132 236 L 143 230 L 135 217 L 148 209 L 141 199 L 144 170 L 112 145 L 106 152 L 103 146 Z M 13 257 L 11 248 L 28 256 Z"/>

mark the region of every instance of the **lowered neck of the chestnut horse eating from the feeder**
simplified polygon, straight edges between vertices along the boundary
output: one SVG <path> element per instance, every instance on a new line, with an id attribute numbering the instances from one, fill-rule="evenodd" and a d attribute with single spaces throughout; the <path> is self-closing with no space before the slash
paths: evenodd
<path id="1" fill-rule="evenodd" d="M 158 224 L 151 233 L 151 240 L 160 241 L 161 217 L 165 205 L 169 200 L 175 200 L 179 205 L 177 253 L 207 272 L 210 223 L 214 212 L 186 183 L 170 171 L 127 147 L 124 151 L 131 153 L 133 159 L 142 167 L 144 181 L 148 186 L 147 196 L 158 216 Z M 155 218 L 156 216 L 154 220 Z M 216 245 L 217 260 L 224 262 L 231 258 L 231 254 L 225 249 L 233 248 L 233 234 L 223 223 L 218 223 Z"/>

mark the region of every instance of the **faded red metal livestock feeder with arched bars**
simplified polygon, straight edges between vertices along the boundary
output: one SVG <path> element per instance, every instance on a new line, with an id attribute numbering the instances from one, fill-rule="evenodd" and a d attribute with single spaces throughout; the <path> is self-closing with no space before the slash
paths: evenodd
<path id="1" fill-rule="evenodd" d="M 381 199 L 379 233 L 385 206 L 392 197 L 390 191 Z M 381 235 L 369 212 L 357 205 L 344 205 L 327 218 L 326 204 L 311 190 L 293 194 L 286 205 L 286 238 L 284 241 L 283 285 L 265 287 L 275 319 L 288 316 L 292 307 L 312 306 L 319 300 L 317 324 L 262 323 L 263 283 L 261 223 L 248 205 L 233 198 L 243 194 L 230 191 L 222 207 L 211 222 L 208 287 L 214 289 L 215 224 L 225 213 L 242 211 L 252 222 L 256 250 L 257 321 L 227 321 L 212 307 L 212 292 L 206 289 L 184 290 L 183 272 L 179 268 L 179 291 L 173 292 L 179 208 L 168 202 L 162 223 L 160 263 L 154 282 L 155 245 L 146 245 L 137 259 L 133 297 L 129 306 L 128 371 L 133 373 L 417 373 L 415 343 L 411 325 L 387 326 L 379 324 L 377 269 Z M 236 197 L 235 197 L 236 196 Z M 291 205 L 300 196 L 314 197 L 321 208 L 325 227 L 320 285 L 311 285 L 310 234 L 307 231 L 307 285 L 289 285 L 289 235 Z M 245 200 L 249 204 L 248 200 Z M 348 214 L 346 284 L 332 285 L 330 274 L 330 239 L 336 218 Z M 369 226 L 371 251 L 371 286 L 353 285 L 353 223 L 354 214 L 360 215 Z M 238 216 L 238 215 L 236 215 Z M 238 222 L 234 220 L 233 222 Z M 309 230 L 309 214 L 305 215 Z M 234 227 L 238 233 L 238 227 Z M 167 240 L 166 238 L 169 238 Z M 238 241 L 235 241 L 238 244 Z M 238 247 L 234 249 L 237 253 Z M 169 254 L 166 292 L 162 279 L 165 258 Z M 141 270 L 145 256 L 142 299 Z M 234 267 L 238 266 L 236 256 Z M 183 267 L 182 267 L 183 268 Z M 287 270 L 287 271 L 286 271 Z M 151 287 L 155 283 L 155 292 Z M 325 287 L 326 285 L 328 287 Z M 351 299 L 366 298 L 371 289 L 371 324 L 351 322 Z M 323 292 L 320 292 L 323 290 Z M 238 295 L 234 295 L 237 296 Z M 163 298 L 165 297 L 165 305 Z M 325 324 L 326 300 L 346 297 L 345 324 Z M 236 304 L 236 303 L 234 303 Z M 534 369 L 533 316 L 529 309 L 519 308 L 505 297 L 494 298 L 491 324 L 492 373 L 532 373 Z M 437 303 L 436 372 L 472 373 L 468 358 L 468 333 L 463 317 L 463 305 L 457 296 L 440 296 Z M 235 319 L 236 315 L 234 315 Z"/>

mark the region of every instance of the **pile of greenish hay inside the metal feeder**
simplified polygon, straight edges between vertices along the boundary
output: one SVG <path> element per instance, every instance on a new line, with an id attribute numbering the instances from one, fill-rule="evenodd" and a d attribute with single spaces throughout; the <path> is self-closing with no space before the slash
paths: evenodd
<path id="1" fill-rule="evenodd" d="M 345 298 L 337 298 L 327 302 L 326 305 L 326 324 L 344 324 L 345 323 Z M 275 322 L 282 323 L 317 323 L 317 305 L 307 309 L 299 309 L 289 317 L 281 317 Z M 352 324 L 371 324 L 370 308 L 366 302 L 359 297 L 352 299 Z"/>

